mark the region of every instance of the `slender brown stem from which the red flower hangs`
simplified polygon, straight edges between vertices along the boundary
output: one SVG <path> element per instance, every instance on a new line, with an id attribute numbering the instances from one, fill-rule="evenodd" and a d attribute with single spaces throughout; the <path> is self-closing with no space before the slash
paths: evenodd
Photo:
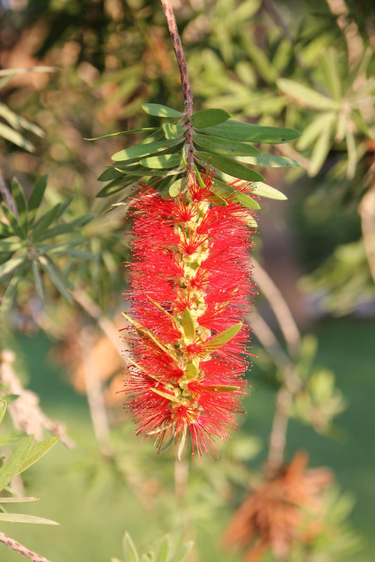
<path id="1" fill-rule="evenodd" d="M 177 29 L 177 23 L 175 19 L 175 14 L 172 10 L 172 5 L 170 0 L 161 0 L 161 6 L 165 14 L 165 19 L 167 20 L 168 29 L 170 32 L 170 38 L 172 39 L 173 48 L 175 49 L 175 55 L 177 58 L 177 64 L 179 66 L 179 74 L 181 76 L 182 82 L 182 92 L 184 94 L 184 105 L 185 105 L 185 140 L 187 145 L 187 171 L 188 175 L 192 173 L 192 165 L 194 162 L 194 147 L 193 147 L 193 127 L 189 120 L 191 114 L 193 113 L 193 94 L 191 93 L 191 83 L 189 78 L 189 72 L 186 65 L 186 58 L 184 55 L 184 49 L 182 48 L 181 39 L 179 37 L 179 32 Z"/>

